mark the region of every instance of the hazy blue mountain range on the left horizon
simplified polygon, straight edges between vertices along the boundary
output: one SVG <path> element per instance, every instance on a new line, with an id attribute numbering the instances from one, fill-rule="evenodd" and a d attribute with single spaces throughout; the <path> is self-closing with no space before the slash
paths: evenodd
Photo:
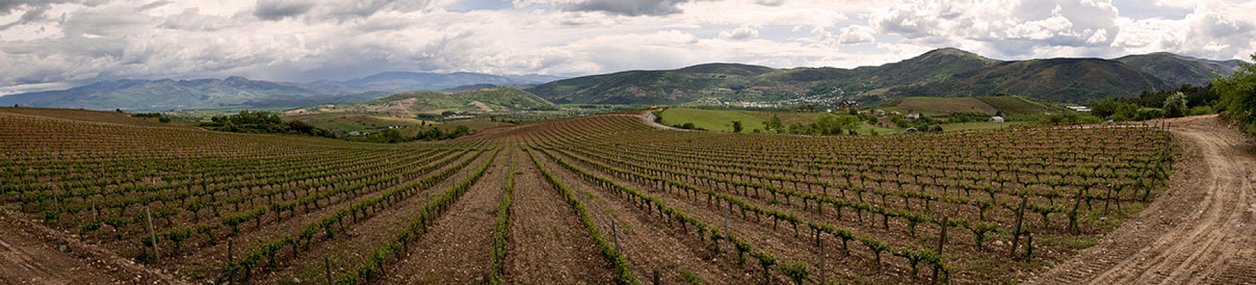
<path id="1" fill-rule="evenodd" d="M 387 72 L 365 78 L 313 83 L 251 80 L 242 77 L 192 80 L 126 79 L 98 82 L 67 90 L 0 97 L 0 105 L 84 108 L 112 110 L 182 110 L 217 108 L 288 108 L 320 103 L 372 100 L 412 90 L 441 90 L 466 85 L 533 87 L 561 79 L 549 75 L 492 75 L 481 73 Z"/>

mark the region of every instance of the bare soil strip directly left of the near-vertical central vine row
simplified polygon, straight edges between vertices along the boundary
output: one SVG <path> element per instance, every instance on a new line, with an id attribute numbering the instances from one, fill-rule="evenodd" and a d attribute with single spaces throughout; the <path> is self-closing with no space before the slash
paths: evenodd
<path id="1" fill-rule="evenodd" d="M 490 157 L 485 153 L 485 157 Z M 386 264 L 386 284 L 484 282 L 492 249 L 492 227 L 510 162 L 497 161 L 471 190 L 411 244 L 408 255 Z M 475 164 L 479 167 L 479 164 Z M 455 177 L 461 181 L 461 177 Z M 448 188 L 446 188 L 448 190 Z"/>

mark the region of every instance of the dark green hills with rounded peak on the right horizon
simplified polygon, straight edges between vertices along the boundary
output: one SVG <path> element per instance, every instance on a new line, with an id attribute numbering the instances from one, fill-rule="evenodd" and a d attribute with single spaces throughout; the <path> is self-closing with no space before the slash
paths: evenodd
<path id="1" fill-rule="evenodd" d="M 1020 94 L 1084 103 L 1134 97 L 1182 84 L 1205 85 L 1235 72 L 1216 62 L 1153 53 L 1118 59 L 1054 58 L 1002 62 L 958 49 L 937 49 L 879 67 L 774 69 L 701 64 L 673 70 L 631 70 L 555 80 L 526 89 L 554 103 L 678 104 L 833 99 L 879 102 L 903 97 Z"/>

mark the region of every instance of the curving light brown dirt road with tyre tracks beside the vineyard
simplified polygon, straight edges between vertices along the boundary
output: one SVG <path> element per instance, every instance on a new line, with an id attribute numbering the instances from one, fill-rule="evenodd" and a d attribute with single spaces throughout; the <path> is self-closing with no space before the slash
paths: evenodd
<path id="1" fill-rule="evenodd" d="M 1256 148 L 1216 116 L 1169 122 L 1186 147 L 1169 191 L 1030 284 L 1256 284 Z"/>

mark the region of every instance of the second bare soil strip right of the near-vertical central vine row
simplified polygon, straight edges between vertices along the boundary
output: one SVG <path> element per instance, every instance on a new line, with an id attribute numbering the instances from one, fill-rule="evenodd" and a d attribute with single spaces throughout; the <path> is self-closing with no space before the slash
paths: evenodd
<path id="1" fill-rule="evenodd" d="M 647 213 L 627 198 L 589 181 L 577 185 L 574 173 L 540 152 L 533 154 L 550 172 L 561 177 L 569 188 L 579 188 L 579 196 L 602 235 L 612 241 L 618 235 L 619 249 L 641 281 L 651 282 L 656 269 L 659 270 L 659 280 L 667 282 L 679 282 L 685 271 L 708 284 L 750 284 L 762 280 L 757 279 L 760 271 L 750 267 L 755 265 L 754 261 L 739 265 L 727 256 L 716 256 L 707 242 L 697 239 L 693 229 L 683 232 L 678 225 L 668 226 L 657 212 Z"/>

